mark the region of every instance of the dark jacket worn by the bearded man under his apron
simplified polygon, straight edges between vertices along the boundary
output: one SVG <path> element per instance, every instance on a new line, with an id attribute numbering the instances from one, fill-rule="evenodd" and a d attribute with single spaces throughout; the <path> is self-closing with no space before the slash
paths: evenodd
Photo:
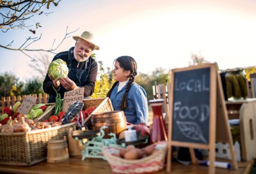
<path id="1" fill-rule="evenodd" d="M 70 62 L 70 59 L 68 59 L 68 57 L 69 57 L 69 58 L 72 58 L 72 68 L 84 69 L 84 66 L 85 66 L 84 63 L 80 63 L 79 66 L 77 67 L 78 62 L 74 58 L 73 50 L 74 50 L 74 47 L 70 48 L 68 51 L 56 54 L 52 61 L 60 58 L 63 61 L 65 61 L 68 66 L 69 62 Z M 69 56 L 68 56 L 68 54 L 69 54 Z M 87 64 L 87 76 L 88 77 L 87 77 L 86 81 L 82 82 L 83 86 L 80 86 L 80 88 L 84 87 L 84 97 L 88 97 L 93 94 L 97 71 L 98 71 L 97 62 L 90 56 L 88 59 L 88 64 Z M 73 79 L 71 79 L 71 80 L 73 80 Z M 46 74 L 45 80 L 43 82 L 43 90 L 47 94 L 53 94 L 53 93 L 55 93 L 55 90 L 53 88 L 54 88 L 53 81 L 49 78 L 48 74 Z M 59 87 L 57 87 L 57 89 L 58 88 Z M 63 96 L 64 96 L 64 92 L 61 92 L 62 99 L 63 99 Z"/>

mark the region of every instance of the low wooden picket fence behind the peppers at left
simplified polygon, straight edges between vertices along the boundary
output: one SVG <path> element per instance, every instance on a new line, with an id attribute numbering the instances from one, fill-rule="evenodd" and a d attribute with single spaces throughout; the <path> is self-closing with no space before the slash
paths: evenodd
<path id="1" fill-rule="evenodd" d="M 36 103 L 47 103 L 48 99 L 49 99 L 49 95 L 44 93 L 42 96 L 42 94 L 28 94 L 29 96 L 33 96 L 36 97 Z M 2 113 L 2 108 L 9 106 L 12 107 L 17 101 L 20 101 L 22 103 L 22 101 L 26 98 L 27 95 L 18 95 L 16 96 L 11 96 L 11 97 L 1 97 L 0 100 L 0 113 Z"/>

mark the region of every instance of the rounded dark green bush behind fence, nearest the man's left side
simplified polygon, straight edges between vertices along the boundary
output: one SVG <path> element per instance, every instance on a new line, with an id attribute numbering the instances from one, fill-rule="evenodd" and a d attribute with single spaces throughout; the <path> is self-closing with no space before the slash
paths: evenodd
<path id="1" fill-rule="evenodd" d="M 43 82 L 37 78 L 27 80 L 21 92 L 22 95 L 39 93 L 44 93 Z"/>

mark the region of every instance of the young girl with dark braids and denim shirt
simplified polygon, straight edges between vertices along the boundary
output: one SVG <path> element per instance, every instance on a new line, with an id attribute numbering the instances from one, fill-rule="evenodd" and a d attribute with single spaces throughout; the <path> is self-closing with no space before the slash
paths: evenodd
<path id="1" fill-rule="evenodd" d="M 130 56 L 118 57 L 113 69 L 114 80 L 107 94 L 115 111 L 124 111 L 127 122 L 137 125 L 147 123 L 148 105 L 145 90 L 134 82 L 137 63 Z"/>

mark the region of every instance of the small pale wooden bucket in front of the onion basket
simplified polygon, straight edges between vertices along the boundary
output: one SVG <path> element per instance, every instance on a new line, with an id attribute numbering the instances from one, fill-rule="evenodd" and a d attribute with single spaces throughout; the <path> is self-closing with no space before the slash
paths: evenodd
<path id="1" fill-rule="evenodd" d="M 57 163 L 68 160 L 66 137 L 61 140 L 49 140 L 47 145 L 47 162 Z"/>

